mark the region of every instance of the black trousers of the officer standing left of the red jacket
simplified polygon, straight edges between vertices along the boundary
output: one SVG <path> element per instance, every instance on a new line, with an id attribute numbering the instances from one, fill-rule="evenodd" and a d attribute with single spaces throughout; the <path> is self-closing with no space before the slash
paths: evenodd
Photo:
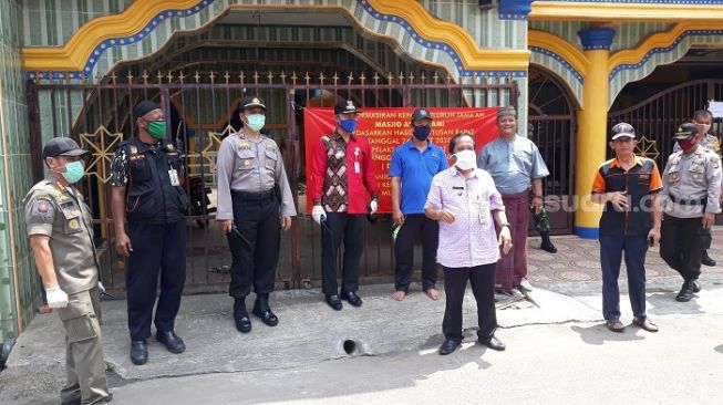
<path id="1" fill-rule="evenodd" d="M 276 268 L 279 264 L 281 221 L 276 196 L 260 200 L 231 197 L 234 225 L 238 229 L 228 233 L 231 250 L 231 282 L 228 294 L 244 299 L 251 292 L 257 295 L 273 291 Z"/>

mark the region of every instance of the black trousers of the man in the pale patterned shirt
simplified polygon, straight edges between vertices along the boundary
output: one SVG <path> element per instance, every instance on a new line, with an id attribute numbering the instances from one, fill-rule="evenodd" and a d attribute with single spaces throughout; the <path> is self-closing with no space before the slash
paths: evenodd
<path id="1" fill-rule="evenodd" d="M 447 302 L 444 308 L 442 333 L 446 339 L 462 342 L 462 304 L 467 280 L 472 284 L 472 293 L 477 301 L 477 323 L 479 324 L 477 338 L 481 342 L 488 342 L 497 329 L 495 263 L 469 268 L 444 268 L 444 292 Z"/>

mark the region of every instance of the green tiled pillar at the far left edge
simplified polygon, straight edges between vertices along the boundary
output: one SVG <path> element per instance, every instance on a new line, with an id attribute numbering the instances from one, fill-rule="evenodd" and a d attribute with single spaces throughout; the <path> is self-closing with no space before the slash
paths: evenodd
<path id="1" fill-rule="evenodd" d="M 0 341 L 18 335 L 42 297 L 22 207 L 32 186 L 22 32 L 22 1 L 0 1 Z"/>

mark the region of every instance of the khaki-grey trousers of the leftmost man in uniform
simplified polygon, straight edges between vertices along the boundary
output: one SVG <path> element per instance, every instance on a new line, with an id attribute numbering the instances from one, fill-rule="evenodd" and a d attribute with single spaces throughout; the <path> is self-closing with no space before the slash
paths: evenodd
<path id="1" fill-rule="evenodd" d="M 104 404 L 111 399 L 105 381 L 97 288 L 69 294 L 68 307 L 55 310 L 65 328 L 68 382 L 60 392 L 63 403 Z"/>

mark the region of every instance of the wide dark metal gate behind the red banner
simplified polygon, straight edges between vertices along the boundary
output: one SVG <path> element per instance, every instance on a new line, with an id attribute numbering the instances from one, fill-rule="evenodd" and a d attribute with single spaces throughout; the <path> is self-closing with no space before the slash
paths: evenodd
<path id="1" fill-rule="evenodd" d="M 94 212 L 96 245 L 104 284 L 124 289 L 123 260 L 113 248 L 110 207 L 110 169 L 113 153 L 131 137 L 133 105 L 140 100 L 158 102 L 166 112 L 167 136 L 185 150 L 189 196 L 197 196 L 187 215 L 186 292 L 225 291 L 230 276 L 230 253 L 215 224 L 215 163 L 220 141 L 240 125 L 234 111 L 245 94 L 255 94 L 268 106 L 268 136 L 282 152 L 287 174 L 300 215 L 281 240 L 277 288 L 316 285 L 320 280 L 319 228 L 306 216 L 302 112 L 307 106 L 331 106 L 337 100 L 354 100 L 370 107 L 400 106 L 497 106 L 516 105 L 515 82 L 455 84 L 435 74 L 365 76 L 347 73 L 298 74 L 296 72 L 157 72 L 118 77 L 114 73 L 99 84 L 47 80 L 28 83 L 33 145 L 33 175 L 43 177 L 40 150 L 52 136 L 72 136 L 93 152 L 82 188 Z M 210 204 L 206 205 L 208 191 Z M 210 208 L 210 209 L 209 209 Z M 390 281 L 393 277 L 391 219 L 366 227 L 361 277 L 364 282 Z"/>

